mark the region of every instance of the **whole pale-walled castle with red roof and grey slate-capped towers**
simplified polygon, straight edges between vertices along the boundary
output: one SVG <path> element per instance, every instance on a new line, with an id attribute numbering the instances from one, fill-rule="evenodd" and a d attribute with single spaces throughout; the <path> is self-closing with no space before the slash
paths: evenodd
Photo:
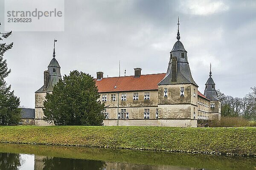
<path id="1" fill-rule="evenodd" d="M 134 68 L 133 76 L 109 78 L 97 72 L 96 85 L 106 106 L 104 125 L 197 127 L 202 120 L 221 119 L 221 102 L 212 73 L 203 95 L 192 78 L 179 28 L 167 72 L 142 75 L 141 70 Z M 54 48 L 48 70 L 44 71 L 44 85 L 35 92 L 35 125 L 50 125 L 43 120 L 42 109 L 46 93 L 51 93 L 59 79 L 60 65 Z"/>

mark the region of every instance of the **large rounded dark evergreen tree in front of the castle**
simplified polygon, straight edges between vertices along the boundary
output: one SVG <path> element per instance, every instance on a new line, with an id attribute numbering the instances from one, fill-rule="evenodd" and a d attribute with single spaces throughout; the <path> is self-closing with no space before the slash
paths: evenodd
<path id="1" fill-rule="evenodd" d="M 46 94 L 44 120 L 55 125 L 101 125 L 104 103 L 99 99 L 93 77 L 79 71 L 71 71 Z"/>

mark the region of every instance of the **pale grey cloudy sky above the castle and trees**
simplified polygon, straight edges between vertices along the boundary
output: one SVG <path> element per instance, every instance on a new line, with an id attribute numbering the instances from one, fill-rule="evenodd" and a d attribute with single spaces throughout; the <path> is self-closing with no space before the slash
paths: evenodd
<path id="1" fill-rule="evenodd" d="M 3 0 L 0 21 L 3 31 Z M 43 73 L 56 59 L 61 74 L 79 70 L 96 77 L 166 73 L 169 52 L 180 41 L 188 51 L 192 77 L 204 92 L 212 63 L 212 78 L 224 94 L 243 97 L 256 85 L 256 1 L 236 0 L 66 0 L 65 31 L 14 31 L 6 52 L 12 69 L 7 82 L 20 105 L 35 107 L 35 91 Z"/>

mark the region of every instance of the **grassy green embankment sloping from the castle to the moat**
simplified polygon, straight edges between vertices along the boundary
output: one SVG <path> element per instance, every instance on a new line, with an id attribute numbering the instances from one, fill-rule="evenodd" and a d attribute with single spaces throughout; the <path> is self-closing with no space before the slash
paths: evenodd
<path id="1" fill-rule="evenodd" d="M 0 142 L 256 156 L 256 127 L 1 126 Z"/>

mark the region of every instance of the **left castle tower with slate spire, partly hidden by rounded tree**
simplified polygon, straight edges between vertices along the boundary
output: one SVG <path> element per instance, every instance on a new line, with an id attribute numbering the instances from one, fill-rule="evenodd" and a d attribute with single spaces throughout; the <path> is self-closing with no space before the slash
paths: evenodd
<path id="1" fill-rule="evenodd" d="M 47 126 L 53 125 L 44 121 L 44 100 L 47 93 L 51 93 L 53 86 L 61 79 L 61 67 L 55 59 L 55 42 L 53 47 L 53 55 L 48 70 L 44 71 L 44 85 L 35 92 L 35 125 Z"/>

